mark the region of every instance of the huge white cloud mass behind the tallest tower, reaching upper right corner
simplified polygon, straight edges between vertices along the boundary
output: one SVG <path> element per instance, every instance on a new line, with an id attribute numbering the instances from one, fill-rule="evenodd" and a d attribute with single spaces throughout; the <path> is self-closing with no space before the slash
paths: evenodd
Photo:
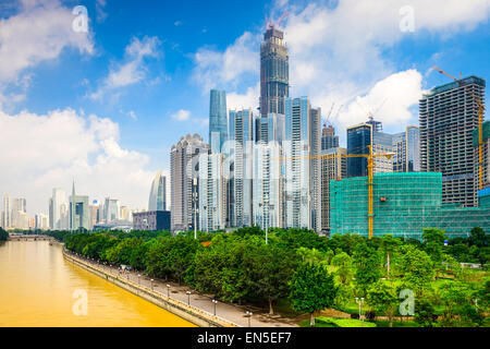
<path id="1" fill-rule="evenodd" d="M 400 29 L 400 9 L 405 5 L 414 10 L 414 33 Z M 332 103 L 344 105 L 334 120 L 342 128 L 366 120 L 359 104 L 372 111 L 385 99 L 377 117 L 396 131 L 416 122 L 411 109 L 421 97 L 421 74 L 399 72 L 383 53 L 404 36 L 444 38 L 471 31 L 488 20 L 490 0 L 341 0 L 303 8 L 277 0 L 271 12 L 279 17 L 283 11 L 289 13 L 282 29 L 290 53 L 290 96 L 309 96 L 323 115 Z M 223 84 L 231 91 L 231 108 L 258 104 L 261 32 L 245 32 L 223 51 L 201 48 L 195 56 L 195 80 L 205 91 L 216 82 Z"/>

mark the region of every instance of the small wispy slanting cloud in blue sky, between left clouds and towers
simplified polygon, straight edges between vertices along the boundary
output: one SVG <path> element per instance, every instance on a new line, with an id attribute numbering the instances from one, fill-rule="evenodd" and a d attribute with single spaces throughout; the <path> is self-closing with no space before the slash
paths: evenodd
<path id="1" fill-rule="evenodd" d="M 160 40 L 156 36 L 145 36 L 143 40 L 134 37 L 125 48 L 125 63 L 111 68 L 101 86 L 89 97 L 100 100 L 108 92 L 136 84 L 146 79 L 147 69 L 144 59 L 158 57 L 159 45 Z"/>

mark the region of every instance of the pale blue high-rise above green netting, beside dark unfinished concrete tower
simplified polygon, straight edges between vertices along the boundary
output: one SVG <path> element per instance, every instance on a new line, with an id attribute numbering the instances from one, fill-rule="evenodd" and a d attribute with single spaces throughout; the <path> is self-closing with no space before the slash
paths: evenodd
<path id="1" fill-rule="evenodd" d="M 393 134 L 393 172 L 420 171 L 420 129 L 408 125 L 405 132 Z"/>

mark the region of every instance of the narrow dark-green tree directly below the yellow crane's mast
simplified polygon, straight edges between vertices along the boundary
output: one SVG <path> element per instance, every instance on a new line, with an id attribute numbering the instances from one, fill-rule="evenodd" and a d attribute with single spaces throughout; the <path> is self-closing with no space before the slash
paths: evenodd
<path id="1" fill-rule="evenodd" d="M 354 248 L 355 284 L 359 294 L 366 296 L 371 284 L 381 277 L 381 261 L 378 251 L 365 242 Z"/>

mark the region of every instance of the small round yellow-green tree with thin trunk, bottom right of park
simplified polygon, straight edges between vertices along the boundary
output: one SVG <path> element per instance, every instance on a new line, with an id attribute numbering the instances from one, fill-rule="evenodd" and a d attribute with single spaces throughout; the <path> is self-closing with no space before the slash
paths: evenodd
<path id="1" fill-rule="evenodd" d="M 387 280 L 379 280 L 367 292 L 368 304 L 377 312 L 388 316 L 390 327 L 393 327 L 393 316 L 399 304 L 395 287 Z"/>

